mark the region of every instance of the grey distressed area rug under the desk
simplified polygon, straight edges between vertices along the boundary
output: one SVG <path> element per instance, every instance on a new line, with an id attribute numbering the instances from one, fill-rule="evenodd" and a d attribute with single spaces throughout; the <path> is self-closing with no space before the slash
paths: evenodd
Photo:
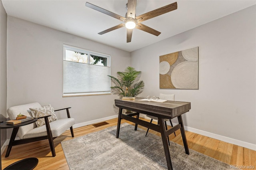
<path id="1" fill-rule="evenodd" d="M 160 136 L 123 123 L 61 142 L 70 170 L 164 170 L 167 169 Z M 170 141 L 171 142 L 171 141 Z M 174 170 L 230 170 L 230 165 L 171 142 Z"/>

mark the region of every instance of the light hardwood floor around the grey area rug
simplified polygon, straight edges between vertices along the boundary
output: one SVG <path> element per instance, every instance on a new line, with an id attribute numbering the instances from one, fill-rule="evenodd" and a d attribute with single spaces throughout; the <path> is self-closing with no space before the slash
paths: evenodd
<path id="1" fill-rule="evenodd" d="M 145 121 L 149 121 L 148 119 L 140 118 Z M 87 125 L 84 127 L 74 128 L 75 137 L 82 136 L 84 134 L 88 134 L 91 132 L 96 132 L 98 130 L 102 130 L 107 127 L 116 126 L 117 118 L 106 121 L 109 124 L 103 125 L 101 127 L 94 127 L 92 125 Z M 126 120 L 122 120 L 121 123 L 130 123 Z M 139 128 L 146 130 L 145 127 L 138 125 Z M 160 136 L 160 133 L 155 132 L 153 130 L 149 130 L 149 132 Z M 52 157 L 52 153 L 50 152 L 50 146 L 48 140 L 42 140 L 38 142 L 32 142 L 29 144 L 22 144 L 19 146 L 13 146 L 10 152 L 10 156 L 5 158 L 6 149 L 2 154 L 2 168 L 16 162 L 18 160 L 30 157 L 36 157 L 39 160 L 38 165 L 35 170 L 68 170 L 68 164 L 66 162 L 66 158 L 62 151 L 62 147 L 60 142 L 62 140 L 71 139 L 70 131 L 67 130 L 54 140 L 56 156 Z M 180 145 L 183 145 L 182 137 L 180 134 L 180 130 L 176 131 L 176 136 L 171 134 L 169 136 L 170 140 L 176 142 Z M 220 140 L 216 140 L 214 138 L 209 138 L 206 136 L 202 136 L 200 134 L 196 134 L 193 132 L 186 131 L 186 138 L 188 141 L 188 147 L 192 150 L 196 150 L 202 154 L 208 155 L 212 158 L 220 160 L 222 162 L 226 162 L 230 165 L 237 166 L 254 166 L 256 169 L 256 151 L 250 150 L 248 148 L 243 148 L 241 146 L 237 146 L 234 144 L 230 144 L 227 142 L 223 142 Z M 86 153 L 85 153 L 86 154 Z M 242 169 L 246 169 L 242 168 Z"/>

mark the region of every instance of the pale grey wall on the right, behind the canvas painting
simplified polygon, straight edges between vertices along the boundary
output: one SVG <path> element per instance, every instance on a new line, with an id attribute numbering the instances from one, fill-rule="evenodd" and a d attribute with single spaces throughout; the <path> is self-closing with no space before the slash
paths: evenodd
<path id="1" fill-rule="evenodd" d="M 196 46 L 199 90 L 159 89 L 159 56 Z M 175 94 L 191 102 L 190 130 L 256 150 L 255 5 L 133 51 L 131 63 L 142 71 L 141 96 Z"/>

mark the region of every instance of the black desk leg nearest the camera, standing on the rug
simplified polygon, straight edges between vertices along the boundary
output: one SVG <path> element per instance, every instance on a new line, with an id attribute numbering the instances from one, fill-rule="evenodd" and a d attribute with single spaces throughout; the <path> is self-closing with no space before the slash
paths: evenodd
<path id="1" fill-rule="evenodd" d="M 168 168 L 168 170 L 172 170 L 172 161 L 171 161 L 171 156 L 170 156 L 170 150 L 169 150 L 167 138 L 165 135 L 166 130 L 165 130 L 165 126 L 164 126 L 164 119 L 158 118 L 158 123 L 159 123 L 160 129 L 161 129 L 161 136 L 162 136 L 162 141 L 163 141 L 163 145 L 164 145 L 164 154 L 165 154 L 165 158 L 166 158 L 166 162 L 167 162 L 167 168 Z"/>

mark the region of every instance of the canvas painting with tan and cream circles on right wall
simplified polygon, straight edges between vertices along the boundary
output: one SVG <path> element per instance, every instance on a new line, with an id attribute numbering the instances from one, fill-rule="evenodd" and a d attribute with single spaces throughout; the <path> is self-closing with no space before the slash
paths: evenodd
<path id="1" fill-rule="evenodd" d="M 198 89 L 198 47 L 159 57 L 160 89 Z"/>

